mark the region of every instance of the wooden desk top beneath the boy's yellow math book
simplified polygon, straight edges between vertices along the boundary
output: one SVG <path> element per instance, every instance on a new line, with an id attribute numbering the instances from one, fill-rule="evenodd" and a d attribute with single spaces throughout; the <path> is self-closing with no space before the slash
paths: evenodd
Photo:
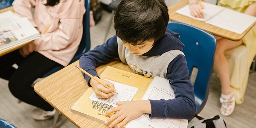
<path id="1" fill-rule="evenodd" d="M 67 119 L 73 122 L 77 127 L 108 128 L 107 125 L 71 112 L 71 107 L 88 89 L 87 83 L 84 80 L 81 71 L 75 67 L 76 65 L 79 65 L 79 61 L 76 61 L 42 81 L 39 81 L 35 84 L 35 92 L 57 109 L 62 115 L 66 116 Z M 99 75 L 107 66 L 132 72 L 128 65 L 123 64 L 120 60 L 116 60 L 97 67 L 96 70 Z"/>

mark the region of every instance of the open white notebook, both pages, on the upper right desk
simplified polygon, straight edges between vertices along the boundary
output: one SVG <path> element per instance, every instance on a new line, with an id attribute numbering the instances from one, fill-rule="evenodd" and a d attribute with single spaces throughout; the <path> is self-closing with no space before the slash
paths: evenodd
<path id="1" fill-rule="evenodd" d="M 202 4 L 204 5 L 204 19 L 193 17 L 189 12 L 189 5 L 178 9 L 176 13 L 203 21 L 213 26 L 217 26 L 238 34 L 243 33 L 256 21 L 256 17 L 250 15 L 246 15 L 206 2 L 202 2 Z"/>

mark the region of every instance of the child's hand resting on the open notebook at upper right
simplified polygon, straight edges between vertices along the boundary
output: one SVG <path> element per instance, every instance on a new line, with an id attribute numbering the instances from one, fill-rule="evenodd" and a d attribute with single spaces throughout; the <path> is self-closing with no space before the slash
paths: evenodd
<path id="1" fill-rule="evenodd" d="M 192 3 L 189 6 L 190 14 L 193 17 L 198 17 L 198 18 L 203 18 L 204 19 L 203 9 L 204 9 L 204 5 L 202 5 L 202 8 L 201 8 L 197 3 Z"/>

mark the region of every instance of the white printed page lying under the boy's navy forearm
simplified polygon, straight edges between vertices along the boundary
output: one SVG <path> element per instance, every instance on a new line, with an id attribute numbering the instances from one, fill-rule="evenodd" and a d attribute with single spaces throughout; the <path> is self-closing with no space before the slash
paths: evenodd
<path id="1" fill-rule="evenodd" d="M 169 80 L 154 77 L 142 99 L 174 99 L 174 91 L 169 84 Z M 150 119 L 148 114 L 143 114 L 137 119 L 131 120 L 126 128 L 187 128 L 186 119 Z"/>

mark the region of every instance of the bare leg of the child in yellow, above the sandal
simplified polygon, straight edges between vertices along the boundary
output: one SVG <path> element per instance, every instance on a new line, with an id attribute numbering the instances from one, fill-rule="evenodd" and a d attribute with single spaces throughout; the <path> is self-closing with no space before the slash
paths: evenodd
<path id="1" fill-rule="evenodd" d="M 215 51 L 214 58 L 214 69 L 217 71 L 220 81 L 221 81 L 221 93 L 224 95 L 231 93 L 230 87 L 230 76 L 229 76 L 229 68 L 227 63 L 227 58 L 224 55 L 224 52 L 238 47 L 242 44 L 242 41 L 231 41 L 228 39 L 217 37 L 217 47 Z"/>

